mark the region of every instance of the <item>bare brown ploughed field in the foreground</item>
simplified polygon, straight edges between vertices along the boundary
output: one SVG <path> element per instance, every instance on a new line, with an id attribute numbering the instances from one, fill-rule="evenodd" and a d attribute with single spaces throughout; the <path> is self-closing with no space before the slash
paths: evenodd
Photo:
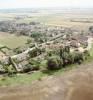
<path id="1" fill-rule="evenodd" d="M 1 87 L 0 100 L 93 100 L 93 63 L 31 86 Z"/>

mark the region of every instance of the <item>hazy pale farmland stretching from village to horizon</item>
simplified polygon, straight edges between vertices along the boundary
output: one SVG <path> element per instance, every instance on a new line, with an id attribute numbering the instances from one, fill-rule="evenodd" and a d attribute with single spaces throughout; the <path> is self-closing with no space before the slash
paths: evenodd
<path id="1" fill-rule="evenodd" d="M 32 11 L 32 12 L 31 12 Z M 71 10 L 15 10 L 7 13 L 0 13 L 0 20 L 13 20 L 17 23 L 29 23 L 31 21 L 41 22 L 47 25 L 71 27 L 73 29 L 88 29 L 93 25 L 92 9 L 71 9 Z M 20 13 L 19 13 L 20 12 Z M 20 19 L 15 19 L 20 17 Z M 74 21 L 71 21 L 74 20 Z M 83 20 L 83 21 L 82 21 Z M 85 22 L 84 22 L 85 21 Z"/>

